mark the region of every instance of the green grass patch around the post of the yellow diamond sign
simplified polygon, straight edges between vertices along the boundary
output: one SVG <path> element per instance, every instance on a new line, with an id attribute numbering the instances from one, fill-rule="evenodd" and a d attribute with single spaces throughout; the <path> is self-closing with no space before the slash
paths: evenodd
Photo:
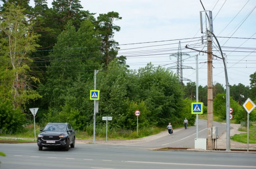
<path id="1" fill-rule="evenodd" d="M 245 127 L 239 127 L 239 131 L 247 131 Z M 247 143 L 247 133 L 235 134 L 230 137 L 231 140 L 237 141 L 240 143 Z M 256 144 L 256 126 L 249 126 L 249 143 Z"/>

